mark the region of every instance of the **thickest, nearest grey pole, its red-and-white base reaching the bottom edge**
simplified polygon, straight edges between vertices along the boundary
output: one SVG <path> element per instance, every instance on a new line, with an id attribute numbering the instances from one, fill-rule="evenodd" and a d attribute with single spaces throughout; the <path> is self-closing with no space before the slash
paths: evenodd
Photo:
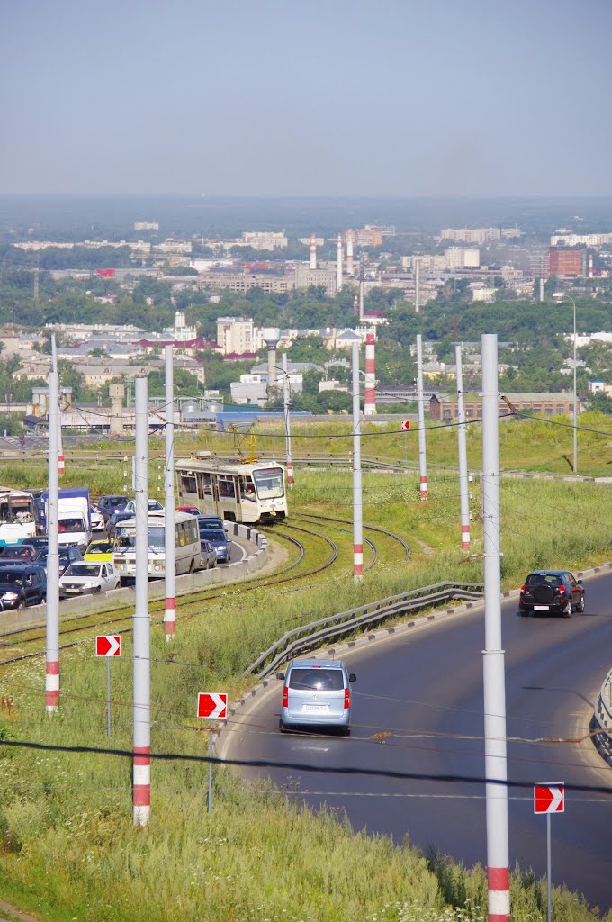
<path id="1" fill-rule="evenodd" d="M 506 691 L 501 647 L 500 443 L 497 334 L 482 337 L 482 514 L 485 538 L 485 776 L 488 917 L 510 920 Z"/>

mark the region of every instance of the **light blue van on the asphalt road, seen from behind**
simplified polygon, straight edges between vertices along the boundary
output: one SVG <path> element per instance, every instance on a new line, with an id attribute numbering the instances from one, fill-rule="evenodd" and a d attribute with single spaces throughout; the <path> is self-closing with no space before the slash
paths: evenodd
<path id="1" fill-rule="evenodd" d="M 351 689 L 357 676 L 339 659 L 293 659 L 283 681 L 279 728 L 336 727 L 350 733 Z"/>

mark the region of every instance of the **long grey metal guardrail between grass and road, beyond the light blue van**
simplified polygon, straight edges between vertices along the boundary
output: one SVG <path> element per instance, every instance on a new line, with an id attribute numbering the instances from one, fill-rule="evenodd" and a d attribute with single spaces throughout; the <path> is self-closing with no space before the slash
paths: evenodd
<path id="1" fill-rule="evenodd" d="M 294 654 L 304 653 L 330 637 L 350 633 L 360 627 L 383 621 L 385 618 L 403 615 L 408 611 L 430 608 L 432 605 L 448 602 L 453 598 L 482 598 L 484 590 L 485 587 L 481 583 L 436 583 L 412 589 L 401 596 L 378 599 L 360 606 L 359 609 L 349 609 L 329 615 L 321 621 L 301 625 L 283 634 L 275 644 L 258 656 L 242 675 L 254 675 L 256 679 L 265 679 Z"/>

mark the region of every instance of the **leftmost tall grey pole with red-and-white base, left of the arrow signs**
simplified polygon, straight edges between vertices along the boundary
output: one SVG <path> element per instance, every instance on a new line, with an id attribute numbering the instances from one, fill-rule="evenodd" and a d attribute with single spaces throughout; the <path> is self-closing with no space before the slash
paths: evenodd
<path id="1" fill-rule="evenodd" d="M 56 714 L 60 703 L 60 561 L 57 552 L 57 490 L 59 453 L 59 379 L 55 337 L 52 334 L 52 370 L 49 372 L 49 458 L 47 489 L 47 625 L 45 705 L 48 715 Z"/>

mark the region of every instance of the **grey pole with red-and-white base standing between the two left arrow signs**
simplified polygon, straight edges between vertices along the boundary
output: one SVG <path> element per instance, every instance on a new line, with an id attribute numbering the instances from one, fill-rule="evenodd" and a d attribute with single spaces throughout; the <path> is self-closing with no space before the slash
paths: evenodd
<path id="1" fill-rule="evenodd" d="M 135 379 L 135 611 L 134 611 L 134 787 L 135 826 L 146 826 L 151 810 L 151 621 L 148 614 L 147 378 Z"/>

